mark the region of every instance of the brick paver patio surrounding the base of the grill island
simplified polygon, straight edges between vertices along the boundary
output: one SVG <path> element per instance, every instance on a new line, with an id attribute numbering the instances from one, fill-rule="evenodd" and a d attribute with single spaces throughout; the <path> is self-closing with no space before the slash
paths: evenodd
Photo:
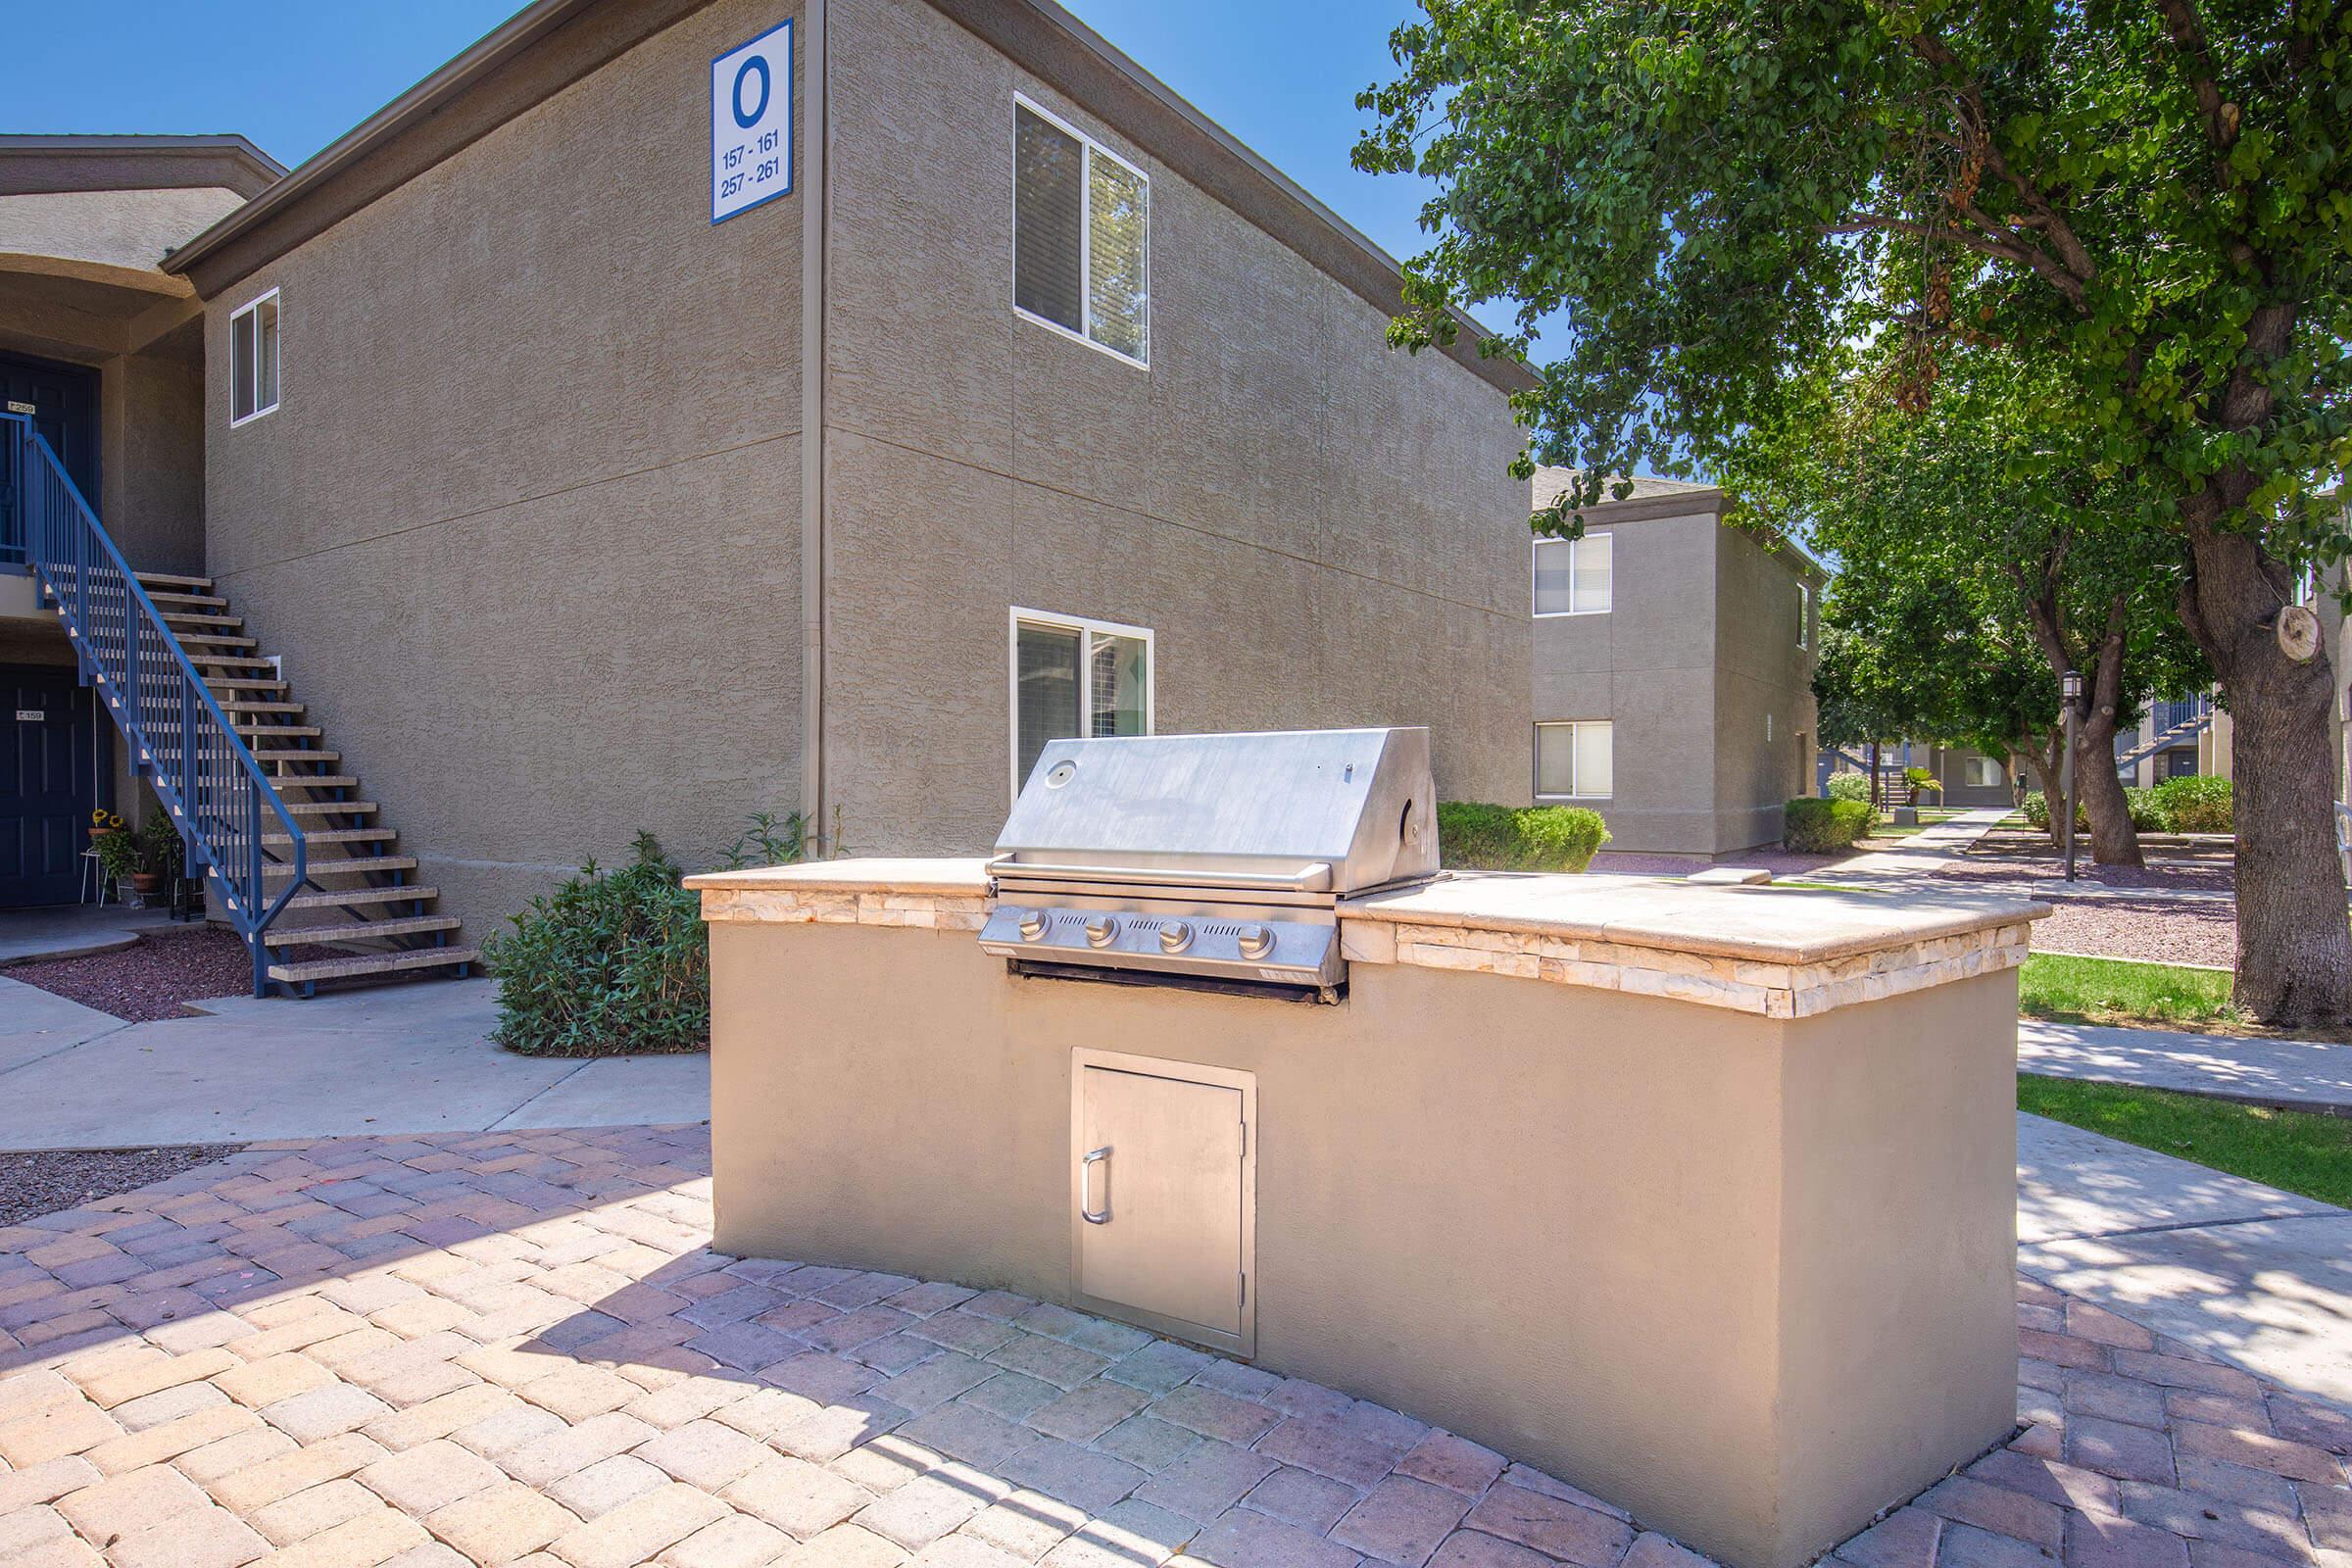
<path id="1" fill-rule="evenodd" d="M 706 1248 L 703 1128 L 346 1138 L 0 1232 L 0 1563 L 1677 1568 L 1503 1455 L 1004 1293 Z M 2025 1286 L 1865 1568 L 2352 1566 L 2352 1420 Z"/>

